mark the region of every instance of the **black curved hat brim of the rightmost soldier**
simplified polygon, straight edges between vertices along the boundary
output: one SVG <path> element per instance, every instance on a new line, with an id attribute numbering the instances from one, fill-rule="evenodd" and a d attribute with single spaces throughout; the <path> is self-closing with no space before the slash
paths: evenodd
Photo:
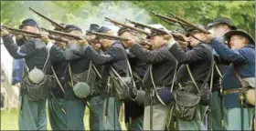
<path id="1" fill-rule="evenodd" d="M 255 45 L 255 41 L 252 38 L 252 36 L 249 35 L 248 33 L 244 32 L 244 31 L 241 31 L 241 30 L 231 30 L 228 33 L 226 33 L 224 36 L 225 36 L 225 39 L 229 41 L 230 37 L 232 35 L 242 35 L 242 36 L 245 36 L 245 37 L 247 37 L 249 39 L 250 44 Z"/>

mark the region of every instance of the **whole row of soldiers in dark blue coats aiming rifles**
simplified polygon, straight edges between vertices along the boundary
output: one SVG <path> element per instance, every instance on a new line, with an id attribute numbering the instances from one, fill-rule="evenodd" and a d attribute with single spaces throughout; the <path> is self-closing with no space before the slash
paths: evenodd
<path id="1" fill-rule="evenodd" d="M 66 33 L 83 36 L 80 27 L 64 26 Z M 121 130 L 123 103 L 128 130 L 251 130 L 254 109 L 240 95 L 240 79 L 250 89 L 255 87 L 254 39 L 226 17 L 207 27 L 198 26 L 212 34 L 189 28 L 180 32 L 186 43 L 154 30 L 146 36 L 121 27 L 117 34 L 128 41 L 102 37 L 93 45 L 85 39 L 54 45 L 47 35 L 16 37 L 15 42 L 13 35 L 1 29 L 10 55 L 25 58 L 27 66 L 21 84 L 19 129 L 47 130 L 48 100 L 53 130 L 85 130 L 86 106 L 90 107 L 91 130 Z M 40 32 L 33 19 L 24 20 L 20 28 Z M 95 24 L 89 31 L 114 35 L 111 28 Z M 149 39 L 152 46 L 137 44 L 140 38 Z M 109 89 L 116 88 L 110 77 L 129 74 L 137 96 L 123 102 L 110 94 Z"/>

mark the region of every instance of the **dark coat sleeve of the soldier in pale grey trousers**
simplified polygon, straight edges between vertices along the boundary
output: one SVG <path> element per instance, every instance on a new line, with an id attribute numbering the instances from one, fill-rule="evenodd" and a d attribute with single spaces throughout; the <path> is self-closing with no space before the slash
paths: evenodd
<path id="1" fill-rule="evenodd" d="M 158 63 L 171 59 L 165 47 L 151 51 L 144 49 L 141 45 L 134 44 L 130 52 L 145 63 Z"/>

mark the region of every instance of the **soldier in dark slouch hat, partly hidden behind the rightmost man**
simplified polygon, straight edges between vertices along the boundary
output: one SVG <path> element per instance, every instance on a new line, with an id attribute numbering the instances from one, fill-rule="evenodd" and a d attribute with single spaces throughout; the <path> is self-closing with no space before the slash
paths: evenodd
<path id="1" fill-rule="evenodd" d="M 208 30 L 212 30 L 213 35 L 215 35 L 223 45 L 226 45 L 224 42 L 224 34 L 230 30 L 236 29 L 237 27 L 231 25 L 231 20 L 228 17 L 218 17 L 212 23 L 208 24 Z M 211 119 L 213 130 L 223 130 L 227 114 L 225 108 L 223 108 L 223 96 L 220 94 L 220 92 L 222 93 L 220 80 L 228 65 L 221 63 L 219 55 L 214 49 L 213 55 L 216 65 L 212 87 L 212 99 L 210 108 L 211 116 L 209 116 L 209 119 Z"/>

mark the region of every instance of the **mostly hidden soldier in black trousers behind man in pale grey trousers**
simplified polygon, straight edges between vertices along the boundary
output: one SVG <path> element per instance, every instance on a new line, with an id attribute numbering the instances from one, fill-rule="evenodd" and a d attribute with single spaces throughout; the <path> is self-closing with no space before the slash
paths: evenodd
<path id="1" fill-rule="evenodd" d="M 134 32 L 126 27 L 118 31 L 118 35 L 123 37 L 135 36 Z M 136 35 L 137 36 L 137 35 Z M 142 80 L 148 68 L 148 64 L 137 58 L 128 51 L 129 62 L 133 71 L 133 80 L 138 90 L 142 90 Z M 124 103 L 125 123 L 128 130 L 143 130 L 144 105 L 129 101 Z"/>

